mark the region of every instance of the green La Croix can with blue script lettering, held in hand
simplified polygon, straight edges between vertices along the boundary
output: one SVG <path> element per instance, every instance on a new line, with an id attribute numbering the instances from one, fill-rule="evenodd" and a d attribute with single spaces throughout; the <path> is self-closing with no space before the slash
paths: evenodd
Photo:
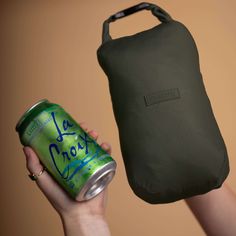
<path id="1" fill-rule="evenodd" d="M 77 201 L 98 195 L 112 180 L 116 162 L 58 104 L 43 99 L 16 125 L 20 141 L 37 153 L 53 178 Z"/>

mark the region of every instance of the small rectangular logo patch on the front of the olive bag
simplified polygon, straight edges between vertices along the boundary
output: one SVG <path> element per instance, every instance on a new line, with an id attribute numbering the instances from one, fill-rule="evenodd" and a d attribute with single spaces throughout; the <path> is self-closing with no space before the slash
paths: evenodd
<path id="1" fill-rule="evenodd" d="M 159 90 L 144 96 L 146 106 L 151 106 L 160 102 L 165 102 L 173 99 L 180 98 L 178 88 Z"/>

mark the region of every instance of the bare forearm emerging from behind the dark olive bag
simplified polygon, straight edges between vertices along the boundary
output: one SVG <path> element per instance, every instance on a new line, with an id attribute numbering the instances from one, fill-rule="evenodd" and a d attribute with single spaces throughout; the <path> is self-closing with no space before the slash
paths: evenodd
<path id="1" fill-rule="evenodd" d="M 185 201 L 208 236 L 236 235 L 236 195 L 228 186 Z"/>

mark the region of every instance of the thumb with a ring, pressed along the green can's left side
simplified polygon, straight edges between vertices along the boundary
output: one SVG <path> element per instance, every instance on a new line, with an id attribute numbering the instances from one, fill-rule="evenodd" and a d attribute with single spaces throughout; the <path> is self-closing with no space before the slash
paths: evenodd
<path id="1" fill-rule="evenodd" d="M 43 169 L 43 165 L 40 163 L 34 150 L 30 147 L 24 147 L 23 151 L 26 156 L 26 166 L 29 172 L 35 175 L 40 173 Z M 71 201 L 67 193 L 47 171 L 44 171 L 42 175 L 37 177 L 36 183 L 57 211 L 60 212 L 63 205 Z"/>

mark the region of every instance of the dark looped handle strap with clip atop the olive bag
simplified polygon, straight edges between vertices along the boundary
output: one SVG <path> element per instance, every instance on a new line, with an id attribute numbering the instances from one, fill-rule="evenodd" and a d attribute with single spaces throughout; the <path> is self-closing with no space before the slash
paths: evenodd
<path id="1" fill-rule="evenodd" d="M 141 2 L 135 6 L 129 7 L 127 9 L 124 9 L 122 11 L 115 13 L 114 15 L 111 15 L 107 20 L 104 21 L 103 31 L 102 31 L 102 43 L 112 40 L 109 33 L 109 24 L 111 22 L 114 22 L 117 19 L 129 16 L 141 10 L 150 10 L 152 14 L 156 16 L 158 20 L 163 23 L 167 23 L 172 20 L 171 16 L 162 8 L 158 7 L 157 5 L 152 4 L 152 3 L 147 3 L 147 2 Z"/>

